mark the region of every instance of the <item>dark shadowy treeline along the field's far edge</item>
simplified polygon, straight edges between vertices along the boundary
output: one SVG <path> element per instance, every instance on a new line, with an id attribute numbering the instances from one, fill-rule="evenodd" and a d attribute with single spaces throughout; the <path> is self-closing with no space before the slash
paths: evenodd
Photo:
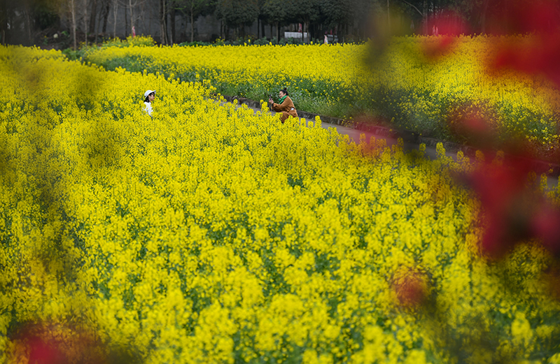
<path id="1" fill-rule="evenodd" d="M 142 34 L 161 44 L 214 41 L 218 36 L 278 39 L 288 27 L 307 32 L 307 41 L 322 40 L 328 33 L 338 41 L 352 42 L 387 30 L 433 34 L 437 20 L 460 22 L 461 27 L 452 28 L 465 34 L 482 34 L 492 32 L 496 24 L 507 29 L 511 15 L 522 12 L 524 4 L 523 0 L 2 0 L 0 41 L 41 45 L 45 38 L 63 34 L 75 48 L 80 42 L 97 42 L 98 36 L 132 35 L 148 17 L 151 34 L 145 29 Z M 198 36 L 197 20 L 205 15 L 219 20 L 214 39 Z"/>

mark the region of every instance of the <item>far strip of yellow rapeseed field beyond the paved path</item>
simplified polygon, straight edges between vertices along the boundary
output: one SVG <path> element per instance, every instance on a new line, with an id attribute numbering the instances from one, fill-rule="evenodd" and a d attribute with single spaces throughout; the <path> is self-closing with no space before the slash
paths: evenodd
<path id="1" fill-rule="evenodd" d="M 382 50 L 369 43 L 109 46 L 88 50 L 85 59 L 106 69 L 122 66 L 180 80 L 209 80 L 221 94 L 257 100 L 288 87 L 300 110 L 336 117 L 373 112 L 438 138 L 451 138 L 449 115 L 471 108 L 498 138 L 521 138 L 543 152 L 556 147 L 560 120 L 554 110 L 560 97 L 551 82 L 540 75 L 492 71 L 500 38 L 461 36 L 447 48 L 442 42 L 441 37 L 396 37 Z M 440 57 L 426 56 L 438 47 Z"/>

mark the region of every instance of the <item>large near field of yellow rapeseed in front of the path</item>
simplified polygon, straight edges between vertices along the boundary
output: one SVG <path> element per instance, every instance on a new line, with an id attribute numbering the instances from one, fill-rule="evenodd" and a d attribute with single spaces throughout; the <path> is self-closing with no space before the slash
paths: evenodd
<path id="1" fill-rule="evenodd" d="M 0 70 L 1 361 L 44 322 L 76 362 L 78 332 L 146 363 L 559 363 L 551 257 L 479 259 L 467 157 L 60 52 L 0 47 Z"/>

